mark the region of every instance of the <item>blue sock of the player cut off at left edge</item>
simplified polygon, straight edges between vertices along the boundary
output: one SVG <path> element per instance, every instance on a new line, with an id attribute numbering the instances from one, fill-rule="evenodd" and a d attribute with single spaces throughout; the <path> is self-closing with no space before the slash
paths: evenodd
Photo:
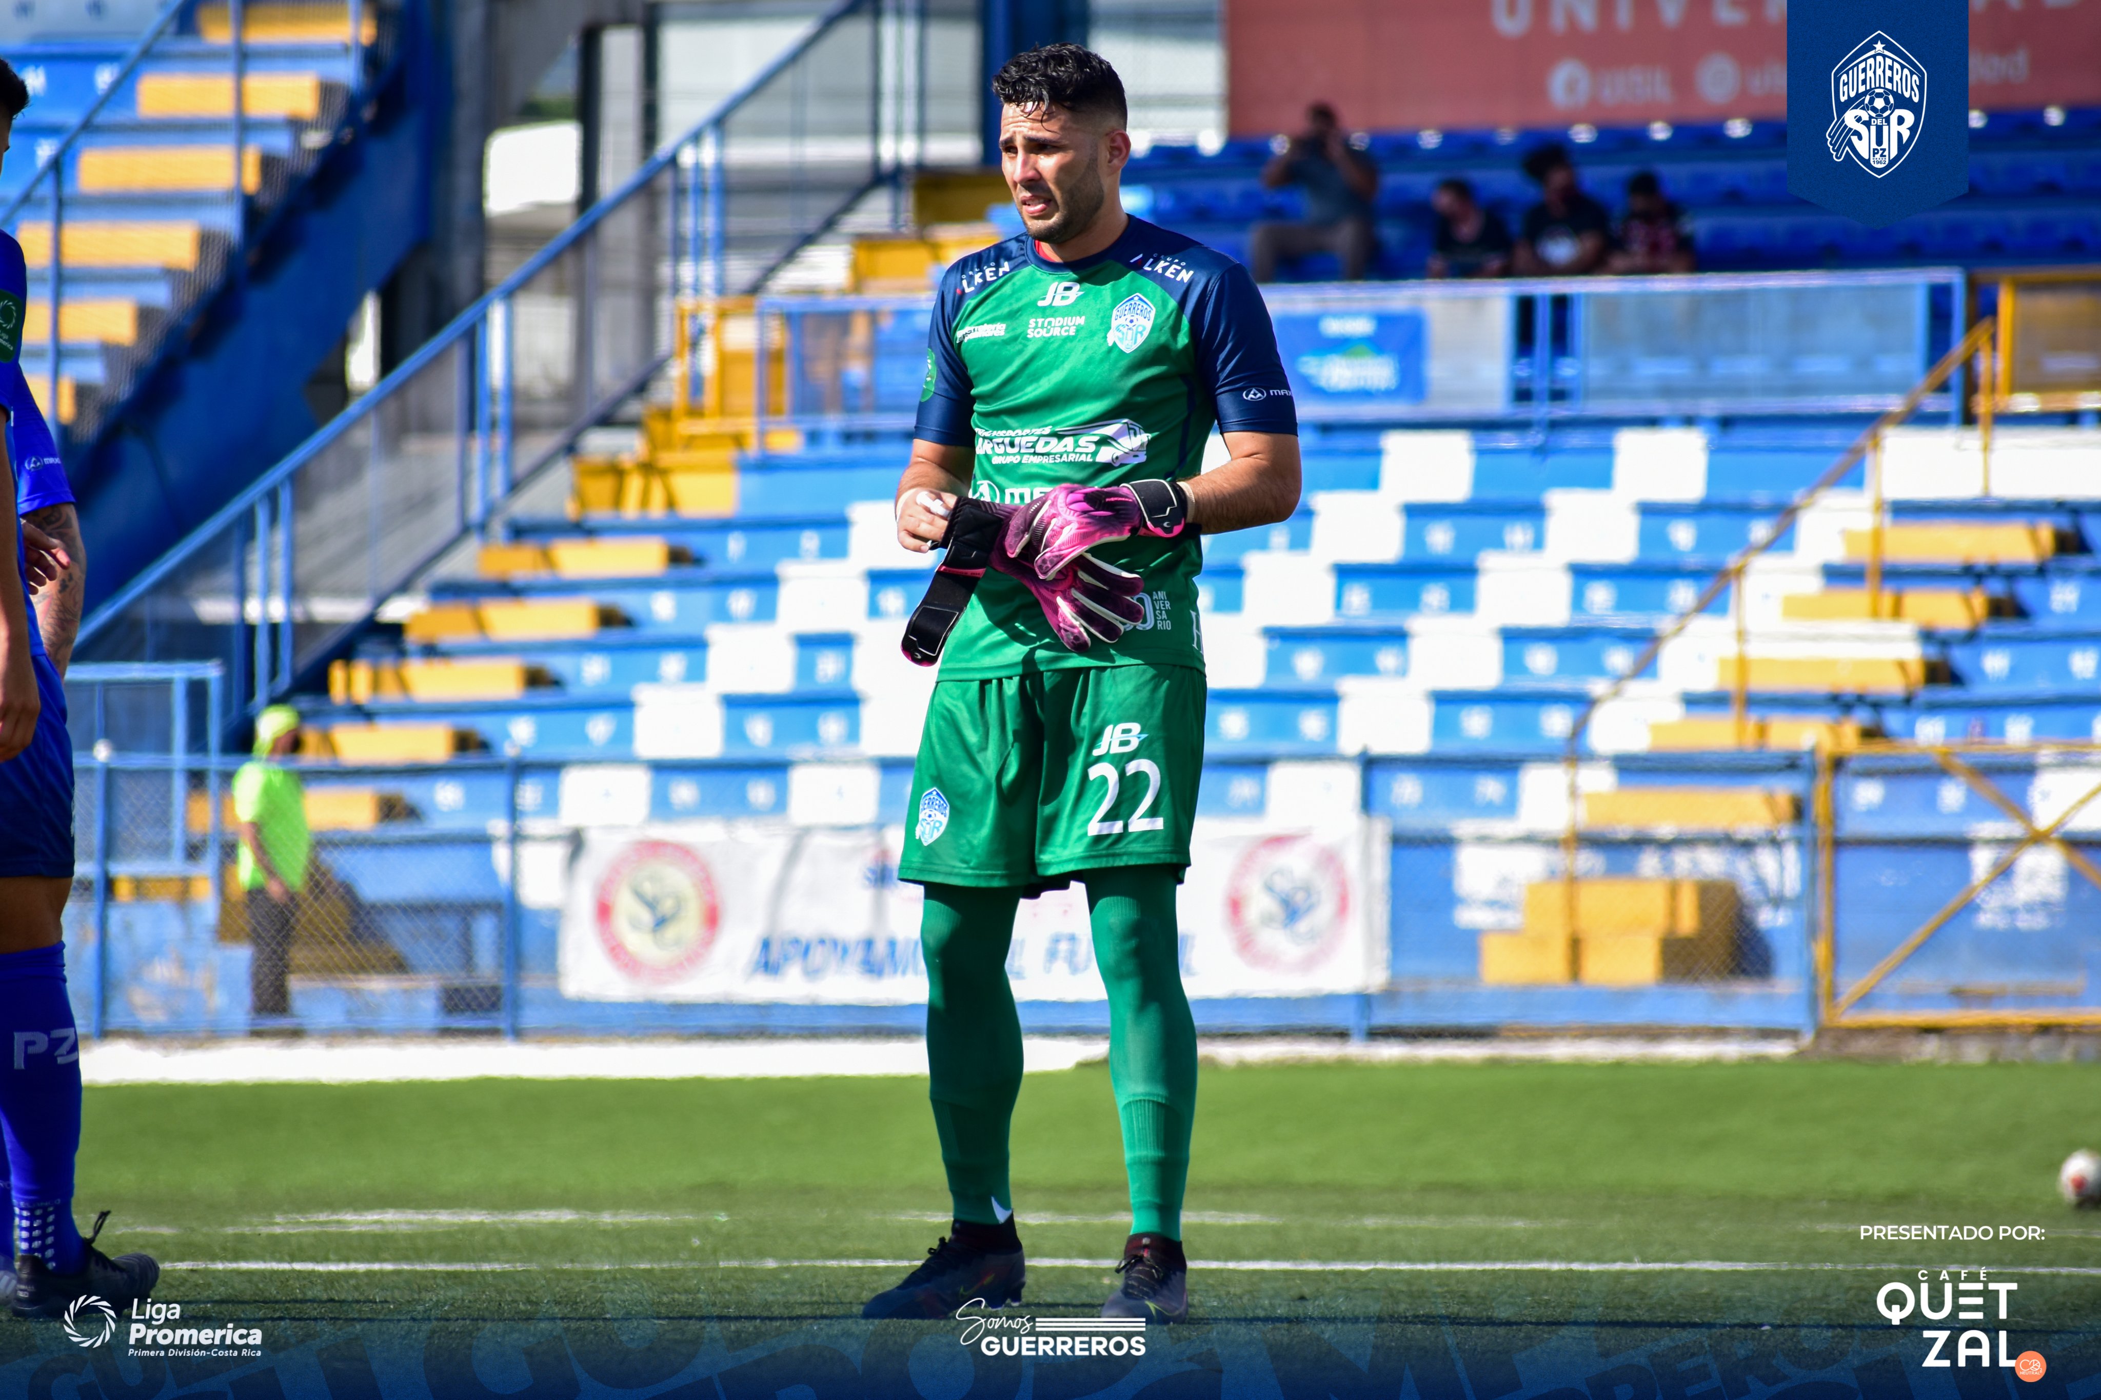
<path id="1" fill-rule="evenodd" d="M 0 953 L 0 1125 L 15 1196 L 15 1251 L 76 1274 L 86 1257 L 74 1224 L 80 1152 L 80 1035 L 65 997 L 65 949 Z"/>

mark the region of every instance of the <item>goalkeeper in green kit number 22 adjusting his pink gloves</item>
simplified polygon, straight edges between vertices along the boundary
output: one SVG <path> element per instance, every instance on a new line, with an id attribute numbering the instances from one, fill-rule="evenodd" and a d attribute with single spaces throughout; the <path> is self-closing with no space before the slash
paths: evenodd
<path id="1" fill-rule="evenodd" d="M 1015 907 L 1078 879 L 1109 993 L 1130 1238 L 1103 1316 L 1187 1316 L 1195 1024 L 1174 890 L 1204 764 L 1200 533 L 1298 506 L 1298 422 L 1254 281 L 1124 214 L 1124 86 L 1050 44 L 992 84 L 1023 235 L 948 269 L 897 539 L 945 550 L 906 628 L 941 674 L 906 812 L 927 888 L 927 1058 L 954 1228 L 864 1310 L 1019 1301 L 1006 1129 Z M 1200 474 L 1212 426 L 1229 460 Z"/>

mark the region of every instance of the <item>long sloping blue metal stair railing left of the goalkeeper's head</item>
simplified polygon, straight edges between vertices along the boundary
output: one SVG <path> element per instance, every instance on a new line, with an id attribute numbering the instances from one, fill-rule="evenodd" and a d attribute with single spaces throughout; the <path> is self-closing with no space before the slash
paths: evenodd
<path id="1" fill-rule="evenodd" d="M 506 497 L 649 386 L 677 304 L 752 290 L 916 160 L 916 76 L 880 61 L 918 52 L 918 13 L 840 0 L 101 607 L 78 655 L 216 661 L 233 720 L 315 680 L 387 596 L 492 531 Z"/>

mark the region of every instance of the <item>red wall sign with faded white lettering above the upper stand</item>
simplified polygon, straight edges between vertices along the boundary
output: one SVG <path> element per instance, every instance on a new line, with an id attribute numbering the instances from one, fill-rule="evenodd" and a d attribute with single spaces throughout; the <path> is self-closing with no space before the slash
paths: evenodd
<path id="1" fill-rule="evenodd" d="M 1782 118 L 1786 27 L 1786 0 L 1225 0 L 1231 128 L 1311 101 L 1359 130 Z M 2101 0 L 1971 0 L 1969 84 L 2101 105 Z"/>

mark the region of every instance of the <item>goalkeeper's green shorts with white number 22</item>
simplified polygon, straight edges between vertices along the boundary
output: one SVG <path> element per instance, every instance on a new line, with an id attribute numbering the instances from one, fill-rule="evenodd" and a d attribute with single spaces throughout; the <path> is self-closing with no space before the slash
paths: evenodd
<path id="1" fill-rule="evenodd" d="M 927 705 L 899 879 L 1061 888 L 1189 865 L 1204 672 L 1088 665 L 941 680 Z"/>

